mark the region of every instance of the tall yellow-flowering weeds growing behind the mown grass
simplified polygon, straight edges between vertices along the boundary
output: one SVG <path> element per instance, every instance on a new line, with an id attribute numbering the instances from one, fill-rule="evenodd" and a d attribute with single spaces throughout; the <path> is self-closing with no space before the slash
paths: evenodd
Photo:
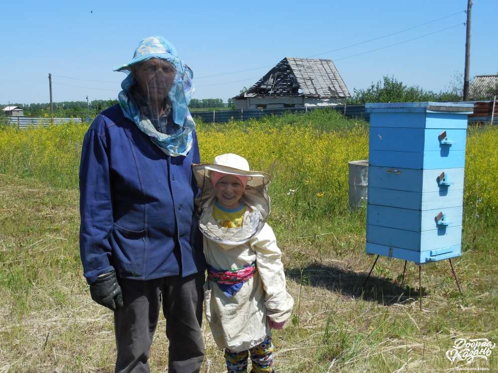
<path id="1" fill-rule="evenodd" d="M 86 124 L 0 130 L 0 173 L 78 187 Z M 224 124 L 199 122 L 201 158 L 237 153 L 271 175 L 272 219 L 292 225 L 349 212 L 348 162 L 368 158 L 368 126 L 334 110 L 269 116 Z M 498 213 L 498 128 L 468 131 L 465 203 L 485 221 Z"/>

